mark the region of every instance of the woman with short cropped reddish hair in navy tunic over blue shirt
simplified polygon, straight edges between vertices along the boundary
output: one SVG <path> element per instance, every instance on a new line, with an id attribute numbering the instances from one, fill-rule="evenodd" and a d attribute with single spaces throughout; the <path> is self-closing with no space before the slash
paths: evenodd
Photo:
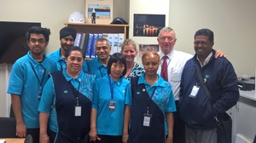
<path id="1" fill-rule="evenodd" d="M 176 112 L 172 85 L 157 74 L 159 54 L 148 51 L 142 60 L 146 72 L 131 78 L 125 100 L 123 142 L 172 143 L 172 112 Z"/>

